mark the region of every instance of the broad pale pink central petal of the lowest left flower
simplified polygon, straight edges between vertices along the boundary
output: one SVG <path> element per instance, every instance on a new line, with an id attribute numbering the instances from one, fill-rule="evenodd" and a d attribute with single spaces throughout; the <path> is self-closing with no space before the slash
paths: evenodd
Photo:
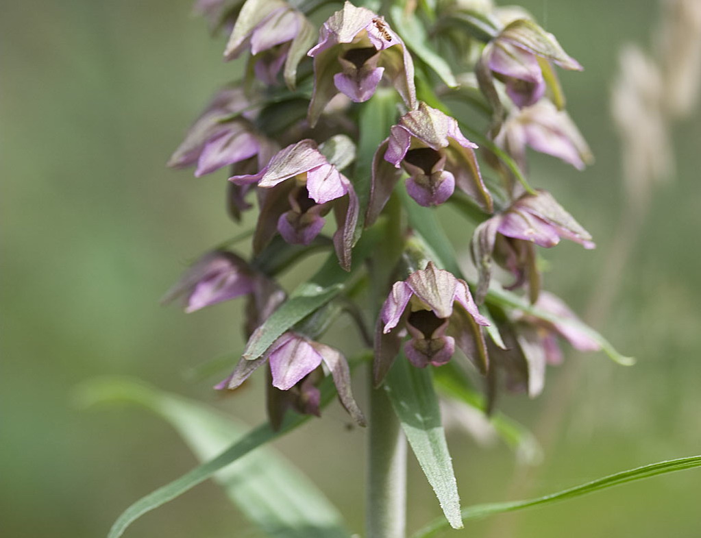
<path id="1" fill-rule="evenodd" d="M 321 364 L 322 356 L 304 337 L 287 332 L 267 353 L 273 386 L 286 391 Z"/>

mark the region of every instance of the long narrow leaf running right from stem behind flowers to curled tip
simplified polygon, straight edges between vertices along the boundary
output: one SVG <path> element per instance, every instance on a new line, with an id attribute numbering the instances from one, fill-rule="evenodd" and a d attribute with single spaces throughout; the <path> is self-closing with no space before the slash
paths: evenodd
<path id="1" fill-rule="evenodd" d="M 455 257 L 455 250 L 448 240 L 445 231 L 440 226 L 435 215 L 435 210 L 419 206 L 418 203 L 412 200 L 409 194 L 402 189 L 400 189 L 400 194 L 402 196 L 404 208 L 407 210 L 409 225 L 421 236 L 426 243 L 427 250 L 433 253 L 436 264 L 447 269 L 458 278 L 464 279 L 463 272 Z M 471 288 L 475 287 L 475 283 L 468 281 L 468 284 Z M 494 304 L 501 308 L 509 307 L 511 309 L 519 309 L 526 314 L 531 314 L 531 316 L 549 321 L 550 323 L 571 325 L 571 327 L 585 332 L 587 336 L 596 341 L 601 346 L 601 350 L 616 363 L 624 366 L 633 365 L 635 363 L 634 358 L 620 354 L 613 345 L 611 345 L 611 342 L 608 342 L 606 338 L 589 325 L 578 320 L 559 318 L 554 316 L 554 314 L 550 314 L 550 312 L 533 307 L 532 304 L 513 292 L 492 285 L 486 294 L 485 300 L 487 303 Z"/>

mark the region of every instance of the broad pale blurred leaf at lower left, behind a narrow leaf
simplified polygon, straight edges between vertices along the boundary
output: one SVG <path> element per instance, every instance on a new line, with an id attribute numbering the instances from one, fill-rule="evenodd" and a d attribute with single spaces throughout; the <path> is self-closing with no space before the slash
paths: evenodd
<path id="1" fill-rule="evenodd" d="M 88 394 L 86 394 L 88 392 Z M 128 379 L 95 382 L 83 391 L 93 403 L 128 401 L 165 419 L 200 461 L 215 457 L 248 429 L 194 401 Z M 344 538 L 341 514 L 304 474 L 271 448 L 218 471 L 215 481 L 266 534 L 280 538 Z"/>

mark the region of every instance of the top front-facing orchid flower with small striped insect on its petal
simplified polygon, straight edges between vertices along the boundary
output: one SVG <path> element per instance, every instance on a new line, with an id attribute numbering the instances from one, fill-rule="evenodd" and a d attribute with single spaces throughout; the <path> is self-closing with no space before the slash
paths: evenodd
<path id="1" fill-rule="evenodd" d="M 350 2 L 327 20 L 319 42 L 309 51 L 314 58 L 314 91 L 309 122 L 315 125 L 336 93 L 354 102 L 367 101 L 385 77 L 407 107 L 416 107 L 414 63 L 404 42 L 376 13 Z"/>

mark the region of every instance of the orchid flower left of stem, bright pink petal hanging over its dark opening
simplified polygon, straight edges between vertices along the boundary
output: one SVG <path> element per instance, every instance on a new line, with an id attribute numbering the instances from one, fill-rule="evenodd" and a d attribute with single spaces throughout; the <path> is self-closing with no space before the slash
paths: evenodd
<path id="1" fill-rule="evenodd" d="M 287 243 L 308 245 L 333 209 L 336 254 L 343 268 L 350 267 L 358 196 L 350 180 L 327 161 L 313 140 L 286 147 L 257 174 L 235 175 L 229 180 L 238 185 L 257 184 L 263 191 L 254 250 L 259 252 L 275 231 Z"/>

